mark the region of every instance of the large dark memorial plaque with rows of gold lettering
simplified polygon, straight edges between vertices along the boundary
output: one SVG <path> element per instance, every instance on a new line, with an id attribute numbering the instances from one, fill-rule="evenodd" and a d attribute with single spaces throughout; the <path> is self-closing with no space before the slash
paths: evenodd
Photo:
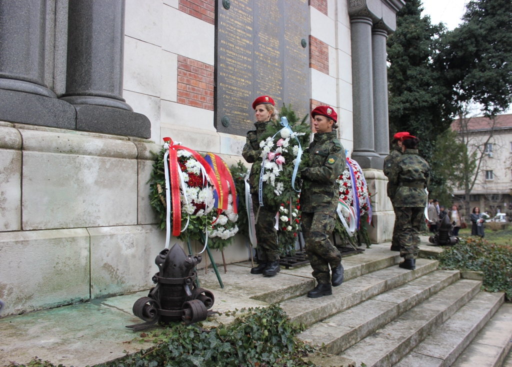
<path id="1" fill-rule="evenodd" d="M 220 4 L 218 2 L 217 4 Z M 281 108 L 309 112 L 307 0 L 232 0 L 217 5 L 215 124 L 244 136 L 254 128 L 252 101 L 269 95 Z"/>

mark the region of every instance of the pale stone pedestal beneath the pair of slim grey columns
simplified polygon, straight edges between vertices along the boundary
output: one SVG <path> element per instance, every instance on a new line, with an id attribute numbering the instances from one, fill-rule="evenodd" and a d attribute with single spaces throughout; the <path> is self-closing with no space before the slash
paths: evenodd
<path id="1" fill-rule="evenodd" d="M 393 226 L 395 225 L 395 212 L 387 195 L 388 178 L 379 169 L 362 170 L 368 190 L 372 195 L 373 227 L 367 226 L 370 240 L 374 244 L 391 241 Z"/>

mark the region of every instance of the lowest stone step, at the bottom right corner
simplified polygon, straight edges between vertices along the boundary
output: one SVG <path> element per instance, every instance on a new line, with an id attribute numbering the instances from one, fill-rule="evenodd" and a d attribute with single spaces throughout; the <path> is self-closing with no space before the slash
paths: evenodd
<path id="1" fill-rule="evenodd" d="M 453 364 L 454 367 L 500 367 L 512 347 L 512 304 L 503 304 Z M 509 366 L 512 367 L 512 358 Z"/>

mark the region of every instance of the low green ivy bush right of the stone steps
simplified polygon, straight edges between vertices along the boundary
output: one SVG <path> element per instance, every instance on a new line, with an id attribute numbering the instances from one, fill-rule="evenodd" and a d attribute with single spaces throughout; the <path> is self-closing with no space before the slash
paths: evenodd
<path id="1" fill-rule="evenodd" d="M 439 256 L 443 269 L 479 271 L 489 292 L 505 292 L 512 301 L 512 247 L 488 243 L 479 237 L 461 238 Z"/>

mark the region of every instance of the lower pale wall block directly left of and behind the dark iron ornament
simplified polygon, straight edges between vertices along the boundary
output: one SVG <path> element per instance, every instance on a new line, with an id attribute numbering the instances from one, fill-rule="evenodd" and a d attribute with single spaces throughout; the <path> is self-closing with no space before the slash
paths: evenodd
<path id="1" fill-rule="evenodd" d="M 88 228 L 91 234 L 91 297 L 150 289 L 155 257 L 165 232 L 154 225 Z"/>

